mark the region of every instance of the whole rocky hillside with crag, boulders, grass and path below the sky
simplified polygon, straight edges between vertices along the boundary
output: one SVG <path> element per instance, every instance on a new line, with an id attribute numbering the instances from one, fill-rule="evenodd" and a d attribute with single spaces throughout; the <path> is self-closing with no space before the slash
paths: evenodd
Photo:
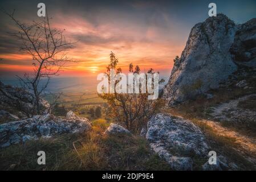
<path id="1" fill-rule="evenodd" d="M 166 105 L 141 133 L 125 129 L 96 94 L 67 94 L 58 111 L 43 107 L 32 117 L 2 104 L 0 168 L 254 170 L 255 65 L 255 19 L 235 24 L 224 14 L 208 18 L 192 28 L 164 87 Z M 31 110 L 28 92 L 0 86 L 7 90 L 2 102 L 13 99 Z M 35 163 L 39 150 L 48 154 L 46 166 Z M 208 163 L 209 151 L 216 152 L 216 165 Z"/>

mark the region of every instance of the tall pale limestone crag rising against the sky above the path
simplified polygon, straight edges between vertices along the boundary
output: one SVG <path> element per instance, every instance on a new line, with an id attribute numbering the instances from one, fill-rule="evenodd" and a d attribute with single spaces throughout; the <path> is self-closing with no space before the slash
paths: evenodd
<path id="1" fill-rule="evenodd" d="M 162 97 L 169 105 L 218 88 L 220 82 L 237 69 L 229 52 L 237 29 L 234 22 L 223 14 L 210 17 L 192 28 L 164 88 Z"/>

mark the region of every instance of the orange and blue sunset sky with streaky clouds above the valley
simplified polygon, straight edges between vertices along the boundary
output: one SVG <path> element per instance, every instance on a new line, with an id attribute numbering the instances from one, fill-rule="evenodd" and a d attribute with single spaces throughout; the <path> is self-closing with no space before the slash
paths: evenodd
<path id="1" fill-rule="evenodd" d="M 256 18 L 256 1 L 2 1 L 21 22 L 38 20 L 37 4 L 46 4 L 52 27 L 66 29 L 66 38 L 78 41 L 69 56 L 79 63 L 60 76 L 96 76 L 104 72 L 113 51 L 119 65 L 153 68 L 168 76 L 194 24 L 208 18 L 208 5 L 217 4 L 237 23 Z M 19 42 L 7 34 L 15 24 L 2 12 L 0 20 L 0 77 L 30 72 L 31 56 L 19 51 Z"/>

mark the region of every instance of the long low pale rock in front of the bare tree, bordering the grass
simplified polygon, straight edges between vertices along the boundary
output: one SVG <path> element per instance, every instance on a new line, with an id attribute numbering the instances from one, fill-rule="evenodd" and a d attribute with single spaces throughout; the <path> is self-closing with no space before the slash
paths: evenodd
<path id="1" fill-rule="evenodd" d="M 72 115 L 72 117 L 70 117 Z M 78 117 L 69 111 L 66 119 L 52 114 L 35 115 L 32 118 L 0 125 L 0 147 L 23 143 L 40 137 L 49 138 L 56 134 L 81 133 L 91 130 L 87 118 Z"/>

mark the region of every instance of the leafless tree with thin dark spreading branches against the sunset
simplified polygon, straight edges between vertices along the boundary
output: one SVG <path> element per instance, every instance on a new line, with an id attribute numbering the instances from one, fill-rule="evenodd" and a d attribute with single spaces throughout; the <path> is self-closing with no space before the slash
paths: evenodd
<path id="1" fill-rule="evenodd" d="M 74 48 L 75 42 L 66 41 L 63 35 L 65 30 L 51 28 L 47 13 L 42 21 L 33 21 L 31 24 L 19 22 L 14 17 L 14 11 L 12 14 L 5 11 L 5 14 L 18 27 L 18 32 L 10 34 L 22 42 L 21 51 L 25 51 L 32 57 L 33 72 L 25 73 L 23 77 L 18 76 L 18 78 L 23 88 L 34 95 L 35 111 L 33 113 L 40 114 L 40 101 L 50 78 L 58 75 L 64 64 L 76 62 L 67 57 L 67 50 Z"/>

